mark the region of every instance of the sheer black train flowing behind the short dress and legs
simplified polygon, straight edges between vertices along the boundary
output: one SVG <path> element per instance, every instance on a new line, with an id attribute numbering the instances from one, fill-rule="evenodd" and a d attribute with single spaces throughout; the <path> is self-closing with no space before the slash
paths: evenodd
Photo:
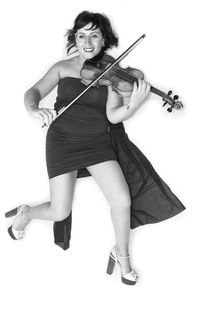
<path id="1" fill-rule="evenodd" d="M 149 160 L 129 140 L 123 123 L 109 123 L 109 126 L 112 146 L 130 189 L 130 228 L 157 223 L 185 210 Z M 87 168 L 78 170 L 77 178 L 87 176 L 91 176 Z M 54 222 L 53 225 L 55 244 L 64 250 L 70 246 L 71 227 L 72 211 L 65 220 Z"/>

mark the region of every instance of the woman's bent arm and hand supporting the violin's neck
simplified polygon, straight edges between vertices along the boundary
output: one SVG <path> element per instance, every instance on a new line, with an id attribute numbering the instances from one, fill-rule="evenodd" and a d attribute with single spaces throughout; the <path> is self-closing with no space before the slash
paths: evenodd
<path id="1" fill-rule="evenodd" d="M 150 92 L 150 85 L 144 80 L 138 79 L 133 85 L 133 92 L 129 98 L 118 95 L 111 87 L 108 87 L 108 98 L 106 103 L 106 114 L 108 120 L 117 124 L 128 118 L 139 108 Z"/>

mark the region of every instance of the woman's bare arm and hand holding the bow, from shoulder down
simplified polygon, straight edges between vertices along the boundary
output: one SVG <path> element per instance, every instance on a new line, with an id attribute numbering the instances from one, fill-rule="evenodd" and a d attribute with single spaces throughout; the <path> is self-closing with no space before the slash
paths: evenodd
<path id="1" fill-rule="evenodd" d="M 56 111 L 50 108 L 39 108 L 39 102 L 49 94 L 60 80 L 63 61 L 55 63 L 47 73 L 24 94 L 24 104 L 28 113 L 49 126 L 56 118 Z"/>

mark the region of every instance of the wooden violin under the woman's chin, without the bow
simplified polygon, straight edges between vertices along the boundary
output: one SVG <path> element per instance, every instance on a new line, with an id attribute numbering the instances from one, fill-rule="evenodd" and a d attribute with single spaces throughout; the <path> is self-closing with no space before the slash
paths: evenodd
<path id="1" fill-rule="evenodd" d="M 101 59 L 93 58 L 87 59 L 81 69 L 82 82 L 85 85 L 90 84 L 96 78 L 103 73 L 108 66 L 112 65 L 115 59 L 110 55 L 103 55 Z M 133 91 L 133 84 L 138 84 L 138 79 L 144 79 L 144 73 L 135 68 L 127 67 L 126 69 L 119 66 L 119 63 L 113 65 L 113 67 L 105 72 L 103 76 L 93 86 L 99 87 L 100 85 L 111 86 L 117 94 L 122 97 L 130 97 Z M 173 109 L 181 109 L 183 107 L 182 102 L 178 101 L 179 96 L 171 96 L 172 91 L 170 90 L 167 94 L 151 86 L 150 92 L 161 96 L 165 106 L 168 104 L 170 107 L 167 108 L 168 112 L 172 112 Z"/>

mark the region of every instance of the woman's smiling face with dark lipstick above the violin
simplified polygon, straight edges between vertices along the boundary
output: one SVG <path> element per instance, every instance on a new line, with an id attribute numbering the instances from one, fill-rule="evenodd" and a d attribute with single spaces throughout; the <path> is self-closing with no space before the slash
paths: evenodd
<path id="1" fill-rule="evenodd" d="M 84 27 L 77 30 L 76 45 L 83 59 L 91 59 L 95 57 L 104 46 L 104 38 L 99 28 L 90 29 L 92 23 L 88 23 Z"/>

